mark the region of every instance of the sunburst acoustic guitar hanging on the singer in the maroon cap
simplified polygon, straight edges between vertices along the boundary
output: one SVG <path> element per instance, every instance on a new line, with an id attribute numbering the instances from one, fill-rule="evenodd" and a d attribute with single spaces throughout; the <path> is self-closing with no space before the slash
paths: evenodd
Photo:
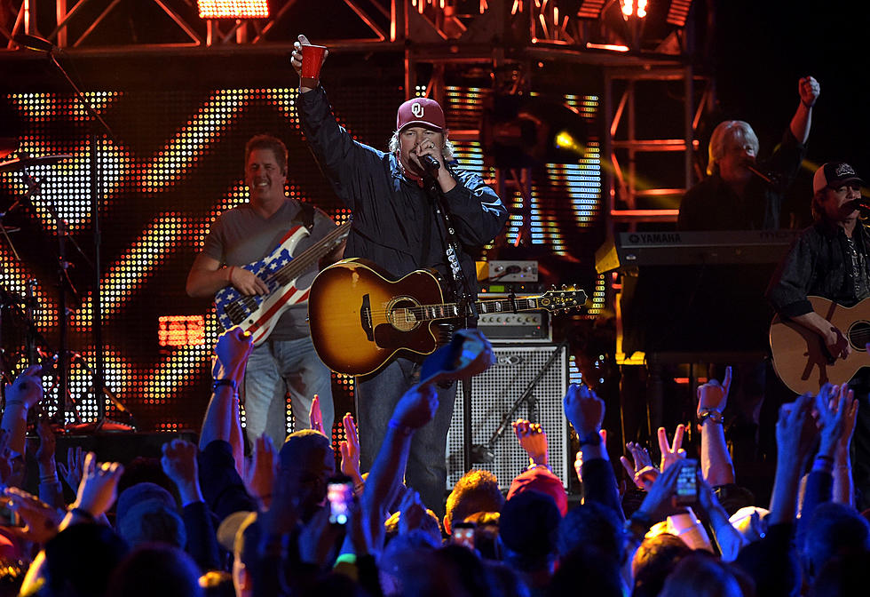
<path id="1" fill-rule="evenodd" d="M 566 289 L 542 296 L 475 303 L 480 314 L 582 306 L 586 292 Z M 367 375 L 395 354 L 430 354 L 438 346 L 431 329 L 439 320 L 463 317 L 460 306 L 445 303 L 439 279 L 417 270 L 392 280 L 365 259 L 344 259 L 314 278 L 308 297 L 308 320 L 320 360 L 339 373 Z"/>

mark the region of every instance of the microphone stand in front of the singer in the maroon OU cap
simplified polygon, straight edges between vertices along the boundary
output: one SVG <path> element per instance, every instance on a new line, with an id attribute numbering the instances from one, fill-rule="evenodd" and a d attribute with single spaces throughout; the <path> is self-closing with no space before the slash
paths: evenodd
<path id="1" fill-rule="evenodd" d="M 434 160 L 433 160 L 434 161 Z M 426 164 L 426 162 L 424 162 Z M 465 270 L 463 270 L 461 246 L 456 238 L 455 227 L 451 221 L 447 203 L 444 201 L 444 193 L 439 187 L 438 163 L 429 163 L 426 168 L 426 176 L 423 176 L 423 187 L 429 195 L 436 217 L 440 218 L 445 230 L 447 244 L 447 266 L 450 267 L 450 283 L 453 287 L 457 312 L 462 316 L 466 328 L 478 327 L 478 307 L 471 296 L 471 284 Z M 434 174 L 433 174 L 434 172 Z M 471 470 L 471 377 L 463 378 L 463 468 L 465 472 Z"/>

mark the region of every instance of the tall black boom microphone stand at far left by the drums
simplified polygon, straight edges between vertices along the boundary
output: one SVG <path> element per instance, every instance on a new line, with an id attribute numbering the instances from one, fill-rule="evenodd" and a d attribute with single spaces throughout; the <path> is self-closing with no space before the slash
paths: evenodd
<path id="1" fill-rule="evenodd" d="M 67 74 L 67 71 L 60 66 L 60 63 L 55 55 L 56 46 L 48 42 L 47 40 L 40 39 L 34 36 L 16 36 L 15 41 L 21 44 L 24 47 L 28 47 L 36 52 L 46 52 L 48 54 L 49 59 L 51 60 L 51 64 L 57 68 L 58 72 L 61 76 L 67 81 L 70 89 L 75 93 L 75 97 L 79 100 L 79 102 L 84 107 L 85 112 L 91 116 L 91 153 L 89 155 L 90 162 L 90 174 L 91 174 L 91 221 L 93 222 L 93 245 L 94 245 L 94 259 L 93 259 L 93 292 L 91 294 L 91 308 L 93 310 L 93 326 L 91 328 L 93 332 L 93 343 L 94 343 L 94 369 L 91 371 L 91 381 L 94 387 L 94 398 L 97 400 L 97 425 L 94 427 L 94 431 L 99 431 L 100 427 L 106 421 L 106 400 L 102 395 L 102 392 L 99 391 L 100 388 L 104 388 L 105 386 L 105 365 L 103 362 L 103 325 L 102 325 L 102 291 L 100 290 L 100 246 L 102 244 L 101 231 L 99 227 L 99 195 L 98 195 L 98 187 L 97 187 L 97 133 L 94 131 L 94 127 L 92 123 L 99 123 L 100 127 L 103 131 L 105 131 L 107 137 L 115 143 L 116 147 L 119 147 L 121 144 L 118 142 L 117 137 L 115 136 L 115 132 L 112 131 L 112 128 L 103 120 L 102 116 L 91 106 L 91 103 L 84 97 L 83 92 L 78 88 L 75 82 L 70 78 Z M 65 316 L 66 314 L 62 314 Z M 61 343 L 61 350 L 66 350 L 66 346 Z"/>

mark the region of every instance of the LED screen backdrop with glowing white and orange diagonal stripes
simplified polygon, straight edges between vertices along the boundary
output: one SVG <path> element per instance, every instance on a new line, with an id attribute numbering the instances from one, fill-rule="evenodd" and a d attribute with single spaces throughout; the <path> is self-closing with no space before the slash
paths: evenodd
<path id="1" fill-rule="evenodd" d="M 208 300 L 190 299 L 187 271 L 212 222 L 221 211 L 243 203 L 243 149 L 250 136 L 271 133 L 289 149 L 287 193 L 313 202 L 337 222 L 349 214 L 336 200 L 305 145 L 291 88 L 210 91 L 98 91 L 87 97 L 110 124 L 117 143 L 91 126 L 71 94 L 12 92 L 4 128 L 14 130 L 28 155 L 68 155 L 56 165 L 28 170 L 38 183 L 27 200 L 28 181 L 20 171 L 0 173 L 0 211 L 10 243 L 0 239 L 0 283 L 17 297 L 36 297 L 33 321 L 44 361 L 59 346 L 59 226 L 67 227 L 66 273 L 76 295 L 68 295 L 67 350 L 69 397 L 83 421 L 95 418 L 97 402 L 88 368 L 94 363 L 92 297 L 94 221 L 91 215 L 91 130 L 97 133 L 99 220 L 102 230 L 102 318 L 107 387 L 144 431 L 197 429 L 210 396 L 210 348 L 220 333 Z M 447 122 L 451 129 L 478 126 L 487 90 L 450 87 Z M 330 91 L 336 115 L 355 139 L 385 148 L 404 100 L 399 87 L 372 84 Z M 596 96 L 566 96 L 590 123 L 597 118 Z M 458 158 L 486 178 L 479 142 L 460 141 Z M 597 139 L 586 157 L 553 164 L 535 175 L 531 204 L 515 188 L 503 200 L 511 211 L 501 246 L 509 246 L 525 222 L 532 259 L 543 259 L 547 282 L 578 283 L 589 291 L 595 313 L 603 304 L 603 281 L 594 274 L 592 252 L 601 241 L 601 176 Z M 15 205 L 16 201 L 21 201 Z M 10 208 L 13 208 L 10 210 Z M 18 231 L 13 231 L 18 228 Z M 489 251 L 490 259 L 499 249 Z M 516 253 L 514 253 L 516 254 Z M 32 282 L 31 282 L 32 281 Z M 13 297 L 3 309 L 4 368 L 23 366 L 28 330 L 26 306 Z M 573 369 L 573 368 L 572 368 Z M 50 367 L 46 382 L 55 376 Z M 56 400 L 57 388 L 49 390 Z M 55 410 L 51 400 L 49 410 Z M 336 419 L 352 410 L 352 379 L 336 376 Z M 71 407 L 70 407 L 71 408 Z M 109 418 L 125 420 L 108 404 Z M 74 422 L 75 410 L 67 412 Z M 290 421 L 289 421 L 290 424 Z"/>

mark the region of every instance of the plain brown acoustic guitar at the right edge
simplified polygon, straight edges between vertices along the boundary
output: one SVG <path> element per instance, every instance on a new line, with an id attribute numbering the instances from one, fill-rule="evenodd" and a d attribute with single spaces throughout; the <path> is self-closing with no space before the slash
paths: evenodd
<path id="1" fill-rule="evenodd" d="M 773 318 L 771 352 L 773 367 L 786 386 L 796 394 L 813 394 L 826 383 L 844 384 L 861 367 L 870 367 L 870 299 L 847 307 L 821 297 L 807 297 L 812 310 L 831 322 L 852 349 L 845 359 L 831 356 L 818 334 L 795 322 Z"/>

